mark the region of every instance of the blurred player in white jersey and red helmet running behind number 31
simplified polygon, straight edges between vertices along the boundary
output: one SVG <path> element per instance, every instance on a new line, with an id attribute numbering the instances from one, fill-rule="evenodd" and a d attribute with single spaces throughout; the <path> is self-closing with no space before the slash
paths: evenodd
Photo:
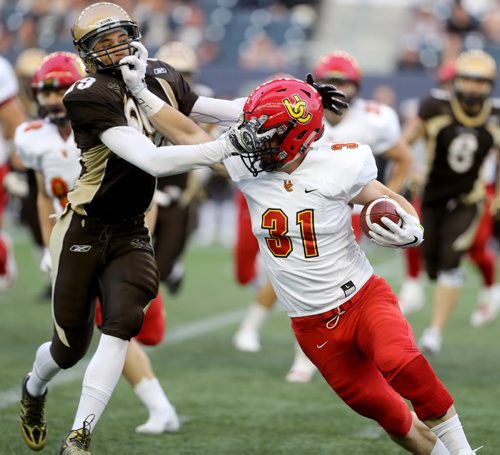
<path id="1" fill-rule="evenodd" d="M 411 153 L 401 137 L 399 118 L 389 106 L 373 100 L 358 98 L 361 85 L 361 70 L 353 56 L 343 51 L 333 51 L 322 57 L 314 68 L 314 78 L 321 83 L 334 84 L 344 92 L 350 103 L 343 115 L 325 110 L 325 132 L 319 144 L 355 141 L 370 145 L 377 159 L 380 180 L 387 177 L 387 186 L 402 192 L 411 167 Z M 390 169 L 387 172 L 386 164 Z M 356 239 L 361 237 L 359 207 L 353 211 L 353 228 Z M 251 351 L 259 341 L 259 330 L 276 296 L 267 282 L 260 290 L 234 337 L 236 347 Z M 261 304 L 264 303 L 264 305 Z M 256 307 L 259 305 L 262 307 Z M 247 349 L 245 349 L 245 347 Z M 315 371 L 314 365 L 296 345 L 293 365 L 286 376 L 290 382 L 308 382 Z"/>

